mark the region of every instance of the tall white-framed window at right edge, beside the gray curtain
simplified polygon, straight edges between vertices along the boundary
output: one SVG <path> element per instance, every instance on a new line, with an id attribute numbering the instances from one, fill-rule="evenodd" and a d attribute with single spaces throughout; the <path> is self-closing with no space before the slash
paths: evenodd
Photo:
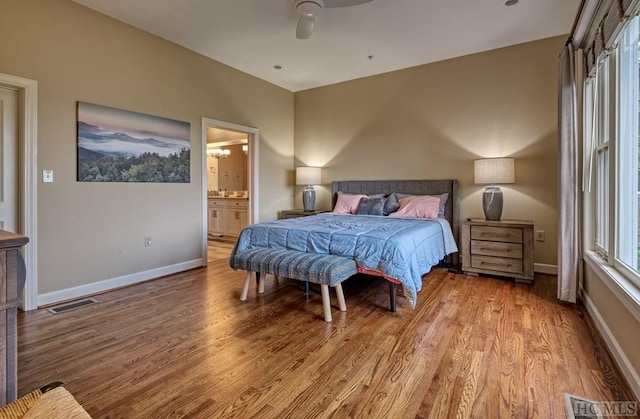
<path id="1" fill-rule="evenodd" d="M 584 85 L 585 169 L 593 248 L 640 287 L 640 19 L 623 27 Z"/>

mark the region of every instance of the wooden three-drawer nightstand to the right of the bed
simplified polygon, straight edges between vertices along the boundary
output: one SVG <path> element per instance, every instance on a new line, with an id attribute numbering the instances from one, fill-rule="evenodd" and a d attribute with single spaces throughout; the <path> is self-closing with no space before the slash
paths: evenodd
<path id="1" fill-rule="evenodd" d="M 533 221 L 463 222 L 462 270 L 533 282 Z"/>

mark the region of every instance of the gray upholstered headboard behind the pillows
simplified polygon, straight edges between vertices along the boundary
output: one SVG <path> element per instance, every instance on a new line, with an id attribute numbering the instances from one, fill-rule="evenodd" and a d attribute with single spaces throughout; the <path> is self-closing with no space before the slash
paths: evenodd
<path id="1" fill-rule="evenodd" d="M 447 192 L 449 199 L 444 209 L 445 217 L 451 224 L 453 237 L 460 247 L 460 194 L 457 179 L 437 180 L 337 180 L 331 183 L 331 208 L 336 205 L 338 191 L 349 194 L 390 194 L 399 192 L 411 195 L 440 195 Z M 448 262 L 457 265 L 455 258 Z"/>

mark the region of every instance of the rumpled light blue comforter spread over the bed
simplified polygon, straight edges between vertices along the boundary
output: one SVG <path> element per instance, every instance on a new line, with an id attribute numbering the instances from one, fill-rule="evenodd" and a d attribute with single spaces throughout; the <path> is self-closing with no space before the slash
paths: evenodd
<path id="1" fill-rule="evenodd" d="M 333 213 L 250 225 L 242 230 L 232 256 L 257 247 L 352 257 L 358 267 L 398 280 L 412 307 L 422 275 L 458 251 L 445 219 Z"/>

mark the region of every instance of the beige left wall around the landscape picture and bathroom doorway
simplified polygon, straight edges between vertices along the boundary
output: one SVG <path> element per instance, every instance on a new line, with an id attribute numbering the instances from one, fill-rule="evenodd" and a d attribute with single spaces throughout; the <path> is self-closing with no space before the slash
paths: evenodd
<path id="1" fill-rule="evenodd" d="M 70 0 L 2 0 L 0 51 L 0 72 L 38 81 L 38 173 L 55 173 L 37 190 L 39 294 L 201 257 L 202 117 L 260 130 L 260 219 L 293 204 L 293 93 Z M 76 101 L 188 121 L 191 183 L 77 182 Z"/>

